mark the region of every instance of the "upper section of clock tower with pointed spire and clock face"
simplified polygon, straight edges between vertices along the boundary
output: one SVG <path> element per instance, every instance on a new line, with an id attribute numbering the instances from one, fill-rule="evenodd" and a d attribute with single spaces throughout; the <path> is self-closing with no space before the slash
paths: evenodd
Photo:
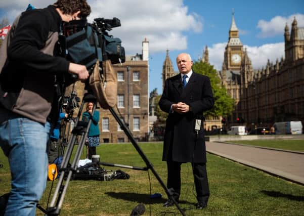
<path id="1" fill-rule="evenodd" d="M 234 11 L 232 11 L 232 22 L 229 30 L 229 40 L 225 49 L 224 64 L 226 69 L 239 71 L 243 59 L 243 45 L 239 38 L 239 29 L 234 21 Z"/>

